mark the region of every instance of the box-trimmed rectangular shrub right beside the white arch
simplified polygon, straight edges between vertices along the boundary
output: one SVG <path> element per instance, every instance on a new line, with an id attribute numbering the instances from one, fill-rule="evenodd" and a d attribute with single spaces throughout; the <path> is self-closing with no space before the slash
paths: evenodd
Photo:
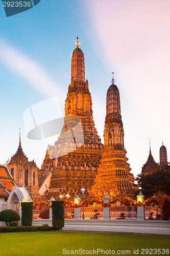
<path id="1" fill-rule="evenodd" d="M 22 226 L 31 226 L 33 220 L 33 202 L 21 203 L 21 224 Z"/>

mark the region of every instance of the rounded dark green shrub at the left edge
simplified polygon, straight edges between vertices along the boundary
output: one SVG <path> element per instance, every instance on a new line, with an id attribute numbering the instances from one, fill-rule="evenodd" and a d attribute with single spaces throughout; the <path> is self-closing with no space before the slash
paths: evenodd
<path id="1" fill-rule="evenodd" d="M 6 225 L 9 226 L 11 221 L 19 221 L 19 214 L 11 209 L 3 210 L 0 212 L 0 221 L 5 221 Z"/>

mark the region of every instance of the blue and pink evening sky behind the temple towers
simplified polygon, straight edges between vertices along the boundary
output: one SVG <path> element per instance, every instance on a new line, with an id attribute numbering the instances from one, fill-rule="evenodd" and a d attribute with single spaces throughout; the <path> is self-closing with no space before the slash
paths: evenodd
<path id="1" fill-rule="evenodd" d="M 106 93 L 114 72 L 131 172 L 141 173 L 149 140 L 155 161 L 162 141 L 170 161 L 169 8 L 168 0 L 41 0 L 6 17 L 0 3 L 0 163 L 15 154 L 20 128 L 23 152 L 41 166 L 47 145 L 56 138 L 29 139 L 27 110 L 38 106 L 41 119 L 64 115 L 77 35 L 102 141 Z M 51 97 L 57 97 L 60 114 L 45 109 Z"/>

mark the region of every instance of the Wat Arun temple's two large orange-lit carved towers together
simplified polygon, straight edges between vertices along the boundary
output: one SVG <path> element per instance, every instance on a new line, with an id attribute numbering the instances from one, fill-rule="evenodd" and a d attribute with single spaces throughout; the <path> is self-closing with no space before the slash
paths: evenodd
<path id="1" fill-rule="evenodd" d="M 105 194 L 111 199 L 132 195 L 136 189 L 135 179 L 126 153 L 120 96 L 114 78 L 107 91 L 104 145 L 101 143 L 92 116 L 84 54 L 77 37 L 63 129 L 55 145 L 48 146 L 38 171 L 39 191 L 46 187 L 50 198 L 64 194 L 75 198 L 81 188 L 85 188 L 86 196 L 98 199 Z"/>

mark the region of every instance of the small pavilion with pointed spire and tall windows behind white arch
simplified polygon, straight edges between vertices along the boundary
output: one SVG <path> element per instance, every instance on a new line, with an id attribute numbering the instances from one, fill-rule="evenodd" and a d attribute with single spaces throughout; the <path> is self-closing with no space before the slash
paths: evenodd
<path id="1" fill-rule="evenodd" d="M 19 130 L 19 146 L 18 149 L 11 157 L 8 164 L 11 175 L 14 181 L 19 187 L 25 185 L 29 191 L 30 196 L 38 196 L 38 167 L 33 161 L 29 162 L 26 155 L 23 153 L 20 140 L 20 130 Z"/>

